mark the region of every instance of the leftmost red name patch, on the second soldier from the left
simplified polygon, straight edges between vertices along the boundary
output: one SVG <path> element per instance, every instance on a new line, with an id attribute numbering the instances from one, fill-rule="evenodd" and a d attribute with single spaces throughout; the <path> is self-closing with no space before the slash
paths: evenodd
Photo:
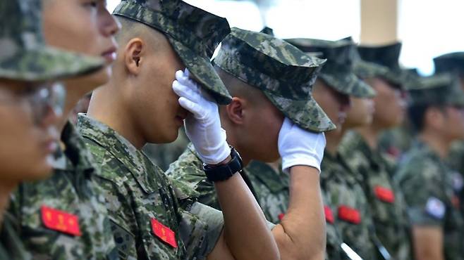
<path id="1" fill-rule="evenodd" d="M 69 235 L 82 235 L 78 216 L 46 206 L 40 208 L 40 213 L 42 214 L 42 222 L 47 228 Z"/>

